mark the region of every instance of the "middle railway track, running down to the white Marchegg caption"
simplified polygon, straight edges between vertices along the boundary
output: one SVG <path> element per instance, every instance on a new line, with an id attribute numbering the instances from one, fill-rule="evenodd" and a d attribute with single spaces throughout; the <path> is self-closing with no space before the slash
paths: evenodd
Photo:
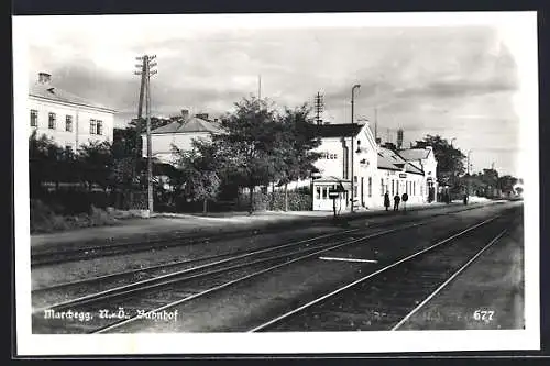
<path id="1" fill-rule="evenodd" d="M 312 241 L 309 241 L 309 243 L 308 241 L 304 241 L 299 244 L 279 245 L 256 251 L 255 253 L 243 254 L 234 258 L 226 258 L 216 263 L 186 268 L 174 274 L 161 275 L 139 282 L 129 282 L 128 285 L 86 295 L 54 306 L 38 308 L 33 314 L 33 331 L 35 333 L 109 332 L 140 320 L 140 309 L 153 309 L 141 315 L 157 313 L 267 271 L 312 258 L 321 253 L 364 243 L 369 239 L 416 228 L 431 221 L 433 220 L 383 230 L 363 236 L 358 235 L 355 230 L 351 230 L 349 234 L 360 237 L 341 240 L 338 243 L 330 243 L 329 241 L 328 243 L 315 243 L 315 245 L 310 245 Z M 329 236 L 333 235 L 327 235 L 327 239 Z M 89 293 L 89 290 L 87 292 Z M 40 301 L 36 301 L 36 303 L 38 304 Z M 123 311 L 119 311 L 118 313 L 114 311 L 116 313 L 106 315 L 106 309 L 118 309 L 118 307 L 122 308 Z M 66 319 L 45 319 L 46 313 L 67 313 L 68 311 L 89 313 L 94 319 L 86 322 L 67 322 Z M 103 314 L 105 317 L 98 314 Z M 119 318 L 120 314 L 122 317 Z"/>

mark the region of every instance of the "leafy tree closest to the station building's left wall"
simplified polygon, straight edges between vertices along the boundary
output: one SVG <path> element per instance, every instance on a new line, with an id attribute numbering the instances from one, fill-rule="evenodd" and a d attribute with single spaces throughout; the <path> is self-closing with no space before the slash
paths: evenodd
<path id="1" fill-rule="evenodd" d="M 305 103 L 294 110 L 286 108 L 280 118 L 278 152 L 283 169 L 279 170 L 279 185 L 285 186 L 285 211 L 288 210 L 288 184 L 310 177 L 320 157 L 320 153 L 312 151 L 321 141 L 314 134 L 310 113 L 310 107 Z"/>

